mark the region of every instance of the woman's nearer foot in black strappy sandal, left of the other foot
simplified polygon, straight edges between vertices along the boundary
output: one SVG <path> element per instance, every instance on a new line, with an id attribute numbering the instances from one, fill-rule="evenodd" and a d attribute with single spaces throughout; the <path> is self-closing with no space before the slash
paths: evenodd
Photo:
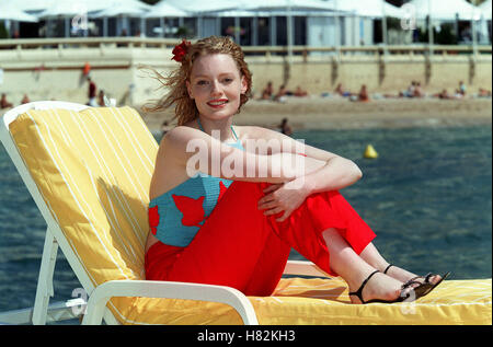
<path id="1" fill-rule="evenodd" d="M 369 274 L 360 284 L 349 285 L 352 303 L 366 303 L 371 300 L 395 301 L 406 298 L 417 285 L 402 288 L 403 282 L 380 271 Z"/>

